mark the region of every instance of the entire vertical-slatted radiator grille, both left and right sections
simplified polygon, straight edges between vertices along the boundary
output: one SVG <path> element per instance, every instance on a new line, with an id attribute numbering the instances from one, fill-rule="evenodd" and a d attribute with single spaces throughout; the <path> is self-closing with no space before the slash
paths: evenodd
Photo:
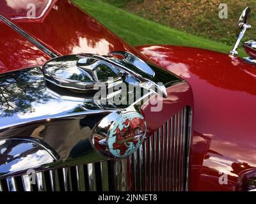
<path id="1" fill-rule="evenodd" d="M 127 159 L 0 179 L 0 191 L 184 191 L 190 136 L 191 110 L 186 107 Z"/>

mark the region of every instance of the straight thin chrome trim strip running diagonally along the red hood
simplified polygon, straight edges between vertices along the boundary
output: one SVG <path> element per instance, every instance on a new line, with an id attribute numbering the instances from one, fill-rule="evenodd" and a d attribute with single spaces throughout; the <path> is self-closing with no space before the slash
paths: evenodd
<path id="1" fill-rule="evenodd" d="M 38 47 L 40 50 L 45 52 L 45 54 L 49 55 L 50 57 L 58 57 L 57 54 L 49 50 L 47 47 L 45 47 L 42 43 L 37 41 L 35 38 L 33 38 L 31 35 L 26 33 L 26 31 L 22 30 L 20 27 L 17 25 L 13 24 L 12 21 L 10 21 L 8 18 L 4 17 L 3 15 L 0 14 L 0 20 L 2 20 L 6 25 L 12 27 L 13 30 L 15 30 L 17 33 L 21 34 L 26 38 L 27 40 L 31 41 L 36 47 Z"/>

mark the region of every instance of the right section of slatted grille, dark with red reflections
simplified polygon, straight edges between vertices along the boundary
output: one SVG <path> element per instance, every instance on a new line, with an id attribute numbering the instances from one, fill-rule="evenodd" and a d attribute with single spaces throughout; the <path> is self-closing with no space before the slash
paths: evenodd
<path id="1" fill-rule="evenodd" d="M 129 157 L 129 190 L 187 190 L 190 120 L 190 109 L 183 108 Z"/>

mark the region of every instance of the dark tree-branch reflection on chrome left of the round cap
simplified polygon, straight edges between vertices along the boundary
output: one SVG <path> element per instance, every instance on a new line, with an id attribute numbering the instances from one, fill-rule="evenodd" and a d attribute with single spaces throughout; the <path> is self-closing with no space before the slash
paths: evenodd
<path id="1" fill-rule="evenodd" d="M 46 101 L 44 80 L 36 71 L 39 69 L 16 71 L 0 77 L 0 115 L 33 112 L 31 103 Z M 36 76 L 37 74 L 37 76 Z"/>

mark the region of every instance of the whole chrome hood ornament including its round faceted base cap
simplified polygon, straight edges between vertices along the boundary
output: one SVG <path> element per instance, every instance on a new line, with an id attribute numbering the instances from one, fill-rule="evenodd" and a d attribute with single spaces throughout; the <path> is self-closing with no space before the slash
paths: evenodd
<path id="1" fill-rule="evenodd" d="M 166 87 L 153 81 L 154 69 L 129 52 L 111 52 L 108 56 L 77 54 L 56 57 L 43 66 L 45 80 L 59 87 L 93 91 L 97 85 L 127 81 L 166 98 Z M 111 80 L 109 80 L 109 78 Z"/>

